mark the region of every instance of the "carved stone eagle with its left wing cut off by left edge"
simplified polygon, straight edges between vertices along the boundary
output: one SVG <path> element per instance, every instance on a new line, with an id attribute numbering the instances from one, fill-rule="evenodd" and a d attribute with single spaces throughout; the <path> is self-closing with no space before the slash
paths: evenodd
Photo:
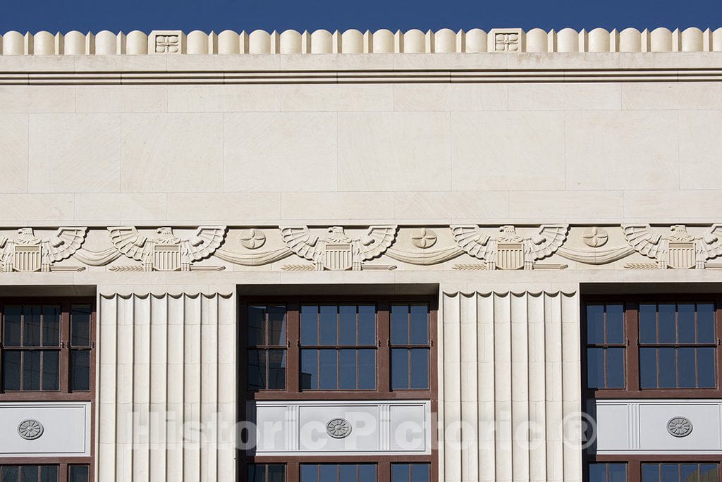
<path id="1" fill-rule="evenodd" d="M 55 235 L 35 237 L 30 227 L 17 230 L 17 237 L 0 235 L 2 271 L 82 271 L 82 266 L 54 266 L 70 258 L 82 246 L 87 227 L 61 227 Z"/>

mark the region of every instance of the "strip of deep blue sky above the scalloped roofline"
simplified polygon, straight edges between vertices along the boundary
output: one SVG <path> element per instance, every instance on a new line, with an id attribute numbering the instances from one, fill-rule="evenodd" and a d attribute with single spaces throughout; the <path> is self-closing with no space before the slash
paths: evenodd
<path id="1" fill-rule="evenodd" d="M 722 0 L 0 0 L 0 32 L 722 26 Z"/>

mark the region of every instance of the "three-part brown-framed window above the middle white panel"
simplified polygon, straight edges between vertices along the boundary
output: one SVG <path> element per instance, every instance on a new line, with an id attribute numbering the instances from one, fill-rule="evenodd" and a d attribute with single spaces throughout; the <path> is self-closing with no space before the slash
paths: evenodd
<path id="1" fill-rule="evenodd" d="M 247 399 L 433 398 L 429 302 L 254 300 L 240 312 Z"/>

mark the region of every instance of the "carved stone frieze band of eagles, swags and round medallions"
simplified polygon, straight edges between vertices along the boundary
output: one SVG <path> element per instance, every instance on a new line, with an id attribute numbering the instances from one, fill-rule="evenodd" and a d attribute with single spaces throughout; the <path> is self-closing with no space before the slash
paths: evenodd
<path id="1" fill-rule="evenodd" d="M 706 269 L 722 267 L 721 257 L 722 224 L 0 230 L 0 271 L 4 273 L 258 267 L 295 272 L 389 271 L 416 266 L 453 271 Z"/>

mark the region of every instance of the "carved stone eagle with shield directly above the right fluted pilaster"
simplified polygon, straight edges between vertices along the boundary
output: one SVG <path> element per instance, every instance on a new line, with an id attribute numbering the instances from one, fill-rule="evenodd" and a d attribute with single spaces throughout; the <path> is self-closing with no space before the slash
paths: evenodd
<path id="1" fill-rule="evenodd" d="M 491 237 L 475 225 L 452 226 L 456 244 L 467 254 L 483 260 L 486 269 L 563 269 L 566 265 L 540 265 L 536 261 L 553 255 L 567 239 L 568 224 L 545 224 L 530 236 L 519 235 L 516 227 L 505 225 Z"/>

